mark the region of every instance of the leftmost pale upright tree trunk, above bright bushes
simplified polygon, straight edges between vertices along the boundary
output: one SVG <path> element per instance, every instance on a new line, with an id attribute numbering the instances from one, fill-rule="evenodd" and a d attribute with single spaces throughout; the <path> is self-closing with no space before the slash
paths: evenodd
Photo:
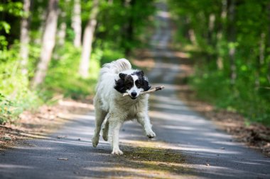
<path id="1" fill-rule="evenodd" d="M 29 44 L 29 13 L 31 0 L 23 0 L 23 11 L 26 13 L 21 20 L 21 36 L 20 36 L 20 57 L 21 57 L 21 72 L 23 75 L 28 74 L 28 44 Z"/>

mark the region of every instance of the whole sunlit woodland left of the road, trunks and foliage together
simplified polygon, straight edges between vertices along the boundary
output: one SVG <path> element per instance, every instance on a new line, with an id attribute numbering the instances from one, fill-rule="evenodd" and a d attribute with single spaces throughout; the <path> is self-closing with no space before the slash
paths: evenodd
<path id="1" fill-rule="evenodd" d="M 154 11 L 153 1 L 1 1 L 0 124 L 58 96 L 92 96 L 102 64 L 142 47 Z"/>

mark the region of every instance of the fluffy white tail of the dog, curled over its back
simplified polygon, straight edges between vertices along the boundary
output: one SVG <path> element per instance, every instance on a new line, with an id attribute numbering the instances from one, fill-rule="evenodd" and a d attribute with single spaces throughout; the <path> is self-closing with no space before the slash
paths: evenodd
<path id="1" fill-rule="evenodd" d="M 114 62 L 104 64 L 102 69 L 100 70 L 100 74 L 104 73 L 112 73 L 119 74 L 121 71 L 125 71 L 131 69 L 131 64 L 127 59 L 117 59 Z"/>

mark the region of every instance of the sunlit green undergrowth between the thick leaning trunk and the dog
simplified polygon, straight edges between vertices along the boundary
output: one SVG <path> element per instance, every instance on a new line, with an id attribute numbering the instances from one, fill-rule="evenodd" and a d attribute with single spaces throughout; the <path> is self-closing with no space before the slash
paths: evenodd
<path id="1" fill-rule="evenodd" d="M 80 64 L 80 49 L 76 49 L 72 43 L 66 42 L 63 47 L 58 47 L 56 50 L 58 53 L 50 63 L 43 88 L 74 99 L 82 99 L 94 93 L 100 66 L 98 52 L 92 54 L 90 78 L 82 79 L 77 73 Z"/>

